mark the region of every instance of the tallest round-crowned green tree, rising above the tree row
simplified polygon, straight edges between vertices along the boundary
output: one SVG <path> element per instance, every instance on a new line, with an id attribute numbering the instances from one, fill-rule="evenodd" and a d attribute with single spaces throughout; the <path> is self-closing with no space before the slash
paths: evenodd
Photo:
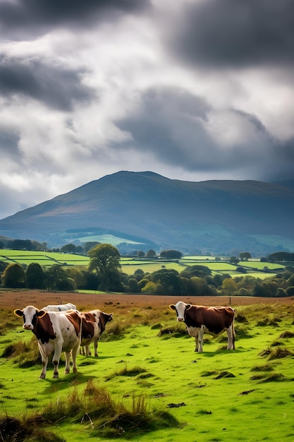
<path id="1" fill-rule="evenodd" d="M 118 288 L 120 254 L 111 244 L 99 244 L 88 252 L 90 256 L 89 270 L 95 270 L 99 277 L 99 289 L 111 290 Z"/>

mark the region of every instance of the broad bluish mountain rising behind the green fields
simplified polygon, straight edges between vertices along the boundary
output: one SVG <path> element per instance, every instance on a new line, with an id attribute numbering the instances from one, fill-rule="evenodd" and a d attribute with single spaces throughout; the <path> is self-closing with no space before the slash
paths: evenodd
<path id="1" fill-rule="evenodd" d="M 294 250 L 293 219 L 290 184 L 122 171 L 0 220 L 0 235 L 56 247 L 112 234 L 143 250 L 264 255 Z"/>

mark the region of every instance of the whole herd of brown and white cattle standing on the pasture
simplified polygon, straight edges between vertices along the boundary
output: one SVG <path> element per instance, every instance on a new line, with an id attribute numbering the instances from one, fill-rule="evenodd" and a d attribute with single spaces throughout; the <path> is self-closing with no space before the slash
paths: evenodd
<path id="1" fill-rule="evenodd" d="M 169 306 L 176 311 L 177 321 L 185 323 L 190 336 L 195 338 L 195 352 L 202 352 L 204 333 L 218 336 L 226 330 L 228 335 L 227 350 L 235 350 L 235 311 L 231 307 L 193 306 L 179 301 Z M 106 323 L 112 321 L 113 313 L 100 310 L 78 311 L 74 304 L 48 305 L 43 309 L 26 306 L 16 309 L 16 316 L 23 317 L 23 328 L 32 330 L 37 338 L 42 357 L 40 379 L 46 377 L 48 359 L 51 354 L 54 364 L 54 378 L 59 378 L 59 360 L 61 352 L 66 357 L 66 370 L 70 371 L 70 358 L 73 360 L 73 372 L 77 372 L 76 357 L 78 351 L 91 355 L 90 343 L 94 342 L 94 355 L 97 357 L 97 345 L 105 330 Z M 84 351 L 85 347 L 85 351 Z"/>

